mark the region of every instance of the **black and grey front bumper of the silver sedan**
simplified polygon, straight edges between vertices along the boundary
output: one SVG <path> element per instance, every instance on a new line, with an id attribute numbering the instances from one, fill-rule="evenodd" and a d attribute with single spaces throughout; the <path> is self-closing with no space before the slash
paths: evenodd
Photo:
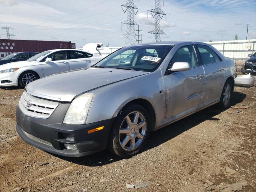
<path id="1" fill-rule="evenodd" d="M 69 104 L 60 104 L 48 119 L 24 115 L 17 106 L 18 134 L 26 143 L 61 156 L 85 156 L 105 149 L 113 119 L 82 125 L 64 124 L 62 122 L 68 106 Z M 101 126 L 104 126 L 103 130 L 88 134 L 88 130 Z M 65 139 L 71 135 L 74 141 Z M 77 149 L 67 149 L 64 144 L 76 144 Z"/>

